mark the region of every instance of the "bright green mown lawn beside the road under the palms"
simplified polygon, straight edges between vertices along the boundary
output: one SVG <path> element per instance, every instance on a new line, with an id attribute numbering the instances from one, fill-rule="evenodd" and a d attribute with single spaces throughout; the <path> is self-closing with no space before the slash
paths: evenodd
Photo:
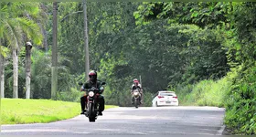
<path id="1" fill-rule="evenodd" d="M 105 105 L 105 109 L 117 106 Z M 60 121 L 80 114 L 80 103 L 60 100 L 1 99 L 1 124 Z"/>

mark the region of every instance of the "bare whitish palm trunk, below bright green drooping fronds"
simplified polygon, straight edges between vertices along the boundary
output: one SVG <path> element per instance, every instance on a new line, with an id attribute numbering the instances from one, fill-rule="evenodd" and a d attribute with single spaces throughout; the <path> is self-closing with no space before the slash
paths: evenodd
<path id="1" fill-rule="evenodd" d="M 17 49 L 13 49 L 13 77 L 14 77 L 14 87 L 13 87 L 13 98 L 18 98 L 18 56 Z"/>

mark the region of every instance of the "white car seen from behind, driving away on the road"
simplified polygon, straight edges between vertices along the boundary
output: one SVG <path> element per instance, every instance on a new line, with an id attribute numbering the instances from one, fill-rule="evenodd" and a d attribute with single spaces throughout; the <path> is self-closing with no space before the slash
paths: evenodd
<path id="1" fill-rule="evenodd" d="M 158 91 L 152 100 L 152 106 L 178 106 L 178 100 L 174 91 L 161 90 Z"/>

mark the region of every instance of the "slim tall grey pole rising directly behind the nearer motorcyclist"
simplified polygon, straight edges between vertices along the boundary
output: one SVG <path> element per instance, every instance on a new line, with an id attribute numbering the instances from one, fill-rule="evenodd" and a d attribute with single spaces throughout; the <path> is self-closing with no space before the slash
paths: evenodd
<path id="1" fill-rule="evenodd" d="M 85 50 L 85 78 L 89 79 L 89 46 L 88 46 L 88 28 L 87 28 L 87 11 L 86 11 L 86 0 L 83 0 L 83 14 L 84 14 L 84 50 Z"/>

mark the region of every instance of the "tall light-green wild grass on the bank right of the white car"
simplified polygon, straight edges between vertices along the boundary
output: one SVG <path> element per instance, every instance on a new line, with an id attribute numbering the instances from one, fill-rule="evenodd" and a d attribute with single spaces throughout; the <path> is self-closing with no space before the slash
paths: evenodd
<path id="1" fill-rule="evenodd" d="M 219 80 L 202 80 L 194 85 L 179 87 L 177 95 L 183 106 L 215 106 L 224 107 L 226 94 L 231 82 L 229 78 Z"/>

